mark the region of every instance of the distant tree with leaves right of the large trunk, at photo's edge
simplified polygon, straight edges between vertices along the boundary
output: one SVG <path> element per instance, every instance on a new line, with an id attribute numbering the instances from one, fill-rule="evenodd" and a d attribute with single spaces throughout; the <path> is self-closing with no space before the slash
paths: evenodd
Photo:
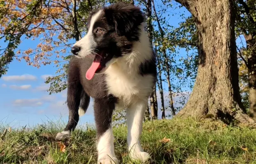
<path id="1" fill-rule="evenodd" d="M 237 47 L 241 59 L 240 84 L 244 105 L 249 98 L 249 114 L 256 120 L 256 0 L 235 0 L 236 32 L 243 35 L 246 46 Z M 248 73 L 247 71 L 248 70 Z M 244 85 L 244 82 L 247 85 Z"/>

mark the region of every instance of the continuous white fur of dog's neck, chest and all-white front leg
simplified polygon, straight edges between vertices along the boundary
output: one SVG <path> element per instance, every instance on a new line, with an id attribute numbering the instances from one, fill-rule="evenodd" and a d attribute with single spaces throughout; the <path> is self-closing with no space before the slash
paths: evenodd
<path id="1" fill-rule="evenodd" d="M 105 73 L 109 94 L 119 98 L 116 109 L 128 108 L 126 110 L 127 142 L 130 157 L 144 162 L 150 159 L 150 155 L 142 149 L 140 135 L 154 77 L 152 75 L 141 76 L 139 73 L 140 64 L 152 57 L 152 49 L 143 25 L 140 29 L 142 30 L 140 40 L 134 44 L 133 51 L 129 55 L 116 59 Z"/>

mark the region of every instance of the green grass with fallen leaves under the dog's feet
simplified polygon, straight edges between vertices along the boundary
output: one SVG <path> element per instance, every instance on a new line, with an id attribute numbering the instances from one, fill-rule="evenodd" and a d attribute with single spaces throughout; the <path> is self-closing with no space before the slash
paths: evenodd
<path id="1" fill-rule="evenodd" d="M 95 130 L 75 130 L 68 141 L 58 142 L 60 131 L 53 123 L 9 130 L 0 140 L 0 164 L 95 164 Z M 115 153 L 120 163 L 132 164 L 126 133 L 125 126 L 114 128 Z M 218 121 L 149 121 L 141 143 L 155 164 L 256 164 L 256 130 Z"/>

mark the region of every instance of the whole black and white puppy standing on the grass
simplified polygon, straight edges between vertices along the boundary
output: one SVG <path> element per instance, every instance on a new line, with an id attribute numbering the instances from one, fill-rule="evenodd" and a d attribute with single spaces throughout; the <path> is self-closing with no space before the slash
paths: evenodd
<path id="1" fill-rule="evenodd" d="M 116 3 L 93 11 L 88 32 L 72 47 L 68 68 L 69 121 L 56 139 L 69 137 L 90 97 L 98 138 L 98 164 L 118 163 L 114 154 L 112 114 L 126 109 L 130 157 L 146 161 L 141 147 L 142 122 L 156 81 L 156 58 L 139 7 Z"/>

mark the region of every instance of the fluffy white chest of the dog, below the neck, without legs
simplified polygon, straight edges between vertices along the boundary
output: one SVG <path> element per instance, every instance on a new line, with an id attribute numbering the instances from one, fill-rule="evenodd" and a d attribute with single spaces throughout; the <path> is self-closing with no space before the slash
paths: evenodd
<path id="1" fill-rule="evenodd" d="M 147 100 L 153 86 L 152 75 L 140 75 L 133 72 L 122 71 L 114 66 L 108 68 L 106 76 L 109 94 L 119 98 L 119 104 L 127 107 L 138 100 Z"/>

